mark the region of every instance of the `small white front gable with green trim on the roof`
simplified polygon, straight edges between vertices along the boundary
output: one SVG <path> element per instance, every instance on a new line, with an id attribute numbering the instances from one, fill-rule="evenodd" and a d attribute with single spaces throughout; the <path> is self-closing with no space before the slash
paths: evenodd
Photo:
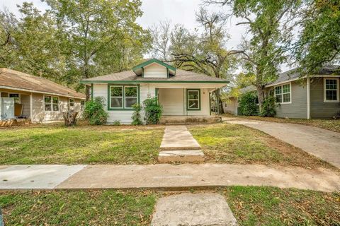
<path id="1" fill-rule="evenodd" d="M 137 76 L 142 76 L 143 78 L 169 78 L 176 74 L 176 68 L 157 59 L 145 61 L 135 66 L 132 70 Z"/>

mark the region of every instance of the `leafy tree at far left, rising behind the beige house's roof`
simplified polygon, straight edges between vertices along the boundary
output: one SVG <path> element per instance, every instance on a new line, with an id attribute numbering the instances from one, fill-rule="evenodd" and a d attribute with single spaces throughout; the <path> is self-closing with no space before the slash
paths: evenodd
<path id="1" fill-rule="evenodd" d="M 50 12 L 41 13 L 32 3 L 18 6 L 19 20 L 6 10 L 0 12 L 0 66 L 58 81 L 64 60 Z"/>

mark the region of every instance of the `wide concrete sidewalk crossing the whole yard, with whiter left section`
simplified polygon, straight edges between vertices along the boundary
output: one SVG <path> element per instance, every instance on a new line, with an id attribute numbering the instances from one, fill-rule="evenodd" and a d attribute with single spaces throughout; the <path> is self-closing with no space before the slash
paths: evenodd
<path id="1" fill-rule="evenodd" d="M 62 169 L 65 170 L 62 170 Z M 340 191 L 340 174 L 331 169 L 265 165 L 20 165 L 0 169 L 1 189 L 179 190 L 254 185 Z"/>

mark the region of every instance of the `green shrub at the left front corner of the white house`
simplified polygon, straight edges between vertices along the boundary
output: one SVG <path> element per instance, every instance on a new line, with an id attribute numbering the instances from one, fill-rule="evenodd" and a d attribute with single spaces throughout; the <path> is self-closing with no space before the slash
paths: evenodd
<path id="1" fill-rule="evenodd" d="M 96 97 L 94 100 L 86 102 L 84 118 L 89 120 L 91 125 L 103 125 L 108 120 L 108 112 L 104 110 L 105 99 Z"/>

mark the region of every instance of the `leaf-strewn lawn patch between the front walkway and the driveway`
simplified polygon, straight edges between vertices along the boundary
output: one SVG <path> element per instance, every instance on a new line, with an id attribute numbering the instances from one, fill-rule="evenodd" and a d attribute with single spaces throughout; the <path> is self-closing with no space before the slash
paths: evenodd
<path id="1" fill-rule="evenodd" d="M 210 124 L 188 129 L 202 146 L 208 162 L 331 167 L 300 148 L 246 126 Z"/>

